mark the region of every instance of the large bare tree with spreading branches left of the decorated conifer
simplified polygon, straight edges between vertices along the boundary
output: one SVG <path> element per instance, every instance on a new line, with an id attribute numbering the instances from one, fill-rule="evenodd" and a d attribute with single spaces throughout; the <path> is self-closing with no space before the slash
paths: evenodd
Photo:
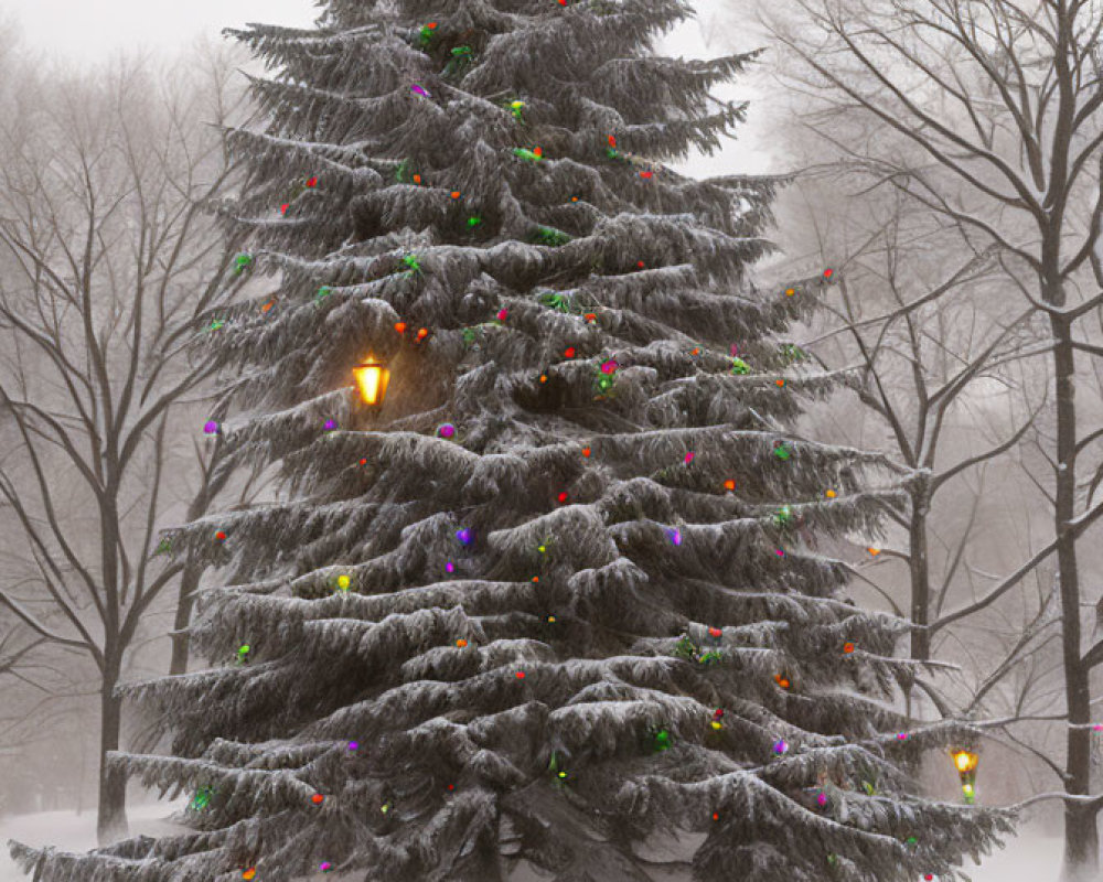
<path id="1" fill-rule="evenodd" d="M 189 344 L 216 333 L 203 316 L 233 262 L 207 211 L 233 181 L 217 128 L 243 100 L 232 73 L 206 51 L 163 73 L 29 75 L 0 115 L 0 504 L 22 552 L 0 605 L 94 665 L 101 842 L 126 830 L 125 779 L 104 762 L 120 746 L 115 689 L 188 566 L 154 553 L 158 529 L 225 483 L 214 450 L 181 465 L 211 375 Z M 180 583 L 178 624 L 196 581 Z"/>

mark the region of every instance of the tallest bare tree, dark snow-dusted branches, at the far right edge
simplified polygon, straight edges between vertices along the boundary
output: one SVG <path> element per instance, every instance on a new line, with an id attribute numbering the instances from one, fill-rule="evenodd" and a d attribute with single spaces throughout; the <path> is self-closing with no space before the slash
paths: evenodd
<path id="1" fill-rule="evenodd" d="M 990 602 L 1056 552 L 1065 704 L 1064 878 L 1094 879 L 1090 794 L 1092 670 L 1103 643 L 1084 646 L 1077 539 L 1088 508 L 1078 460 L 1103 432 L 1078 419 L 1077 355 L 1099 356 L 1083 320 L 1103 305 L 1103 9 L 1088 0 L 795 0 L 796 28 L 772 31 L 803 74 L 793 82 L 826 114 L 864 116 L 879 135 L 835 143 L 848 171 L 895 189 L 996 248 L 1007 289 L 1048 332 L 1052 366 L 1052 541 L 981 599 Z M 1018 308 L 1016 308 L 1018 309 Z M 1081 385 L 1085 389 L 1085 385 Z M 979 601 L 978 601 L 979 602 Z M 959 621 L 977 604 L 943 616 Z"/>

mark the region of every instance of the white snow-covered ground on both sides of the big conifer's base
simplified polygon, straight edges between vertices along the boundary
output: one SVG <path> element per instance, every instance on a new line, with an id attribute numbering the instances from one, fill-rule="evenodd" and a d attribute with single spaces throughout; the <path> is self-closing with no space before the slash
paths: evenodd
<path id="1" fill-rule="evenodd" d="M 184 806 L 179 803 L 157 803 L 137 806 L 129 811 L 132 833 L 163 835 L 172 830 L 165 820 Z M 18 839 L 28 845 L 55 845 L 71 851 L 92 848 L 96 841 L 95 814 L 79 817 L 72 811 L 49 811 L 0 818 L 0 882 L 25 882 L 8 858 L 7 841 Z M 973 882 L 1057 882 L 1061 867 L 1061 840 L 1027 835 L 1011 840 L 1008 847 L 988 858 L 972 871 Z"/>

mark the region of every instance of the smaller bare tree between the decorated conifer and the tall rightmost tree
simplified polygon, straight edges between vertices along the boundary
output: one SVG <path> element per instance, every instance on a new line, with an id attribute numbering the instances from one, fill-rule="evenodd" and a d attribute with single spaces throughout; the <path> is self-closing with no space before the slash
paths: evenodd
<path id="1" fill-rule="evenodd" d="M 837 190 L 837 175 L 828 183 Z M 801 189 L 816 190 L 816 180 Z M 837 195 L 833 194 L 834 201 Z M 821 200 L 813 214 L 822 209 Z M 923 229 L 922 218 L 891 194 L 859 198 L 842 208 L 849 224 L 833 224 L 839 235 L 820 237 L 827 255 L 844 251 L 839 284 L 824 302 L 821 321 L 806 342 L 826 369 L 848 372 L 849 386 L 870 420 L 834 420 L 848 443 L 869 441 L 887 447 L 908 475 L 909 505 L 889 516 L 899 527 L 899 542 L 870 549 L 869 566 L 878 571 L 907 569 L 907 599 L 898 602 L 891 578 L 872 584 L 893 612 L 917 625 L 911 658 L 927 662 L 942 631 L 941 614 L 955 599 L 955 585 L 971 576 L 970 552 L 976 550 L 983 521 L 987 466 L 1015 449 L 1042 409 L 1046 385 L 1026 380 L 1021 362 L 1043 354 L 1031 346 L 1027 309 L 1004 316 L 993 309 L 990 289 L 998 277 L 990 254 L 956 248 L 939 230 Z M 914 212 L 912 212 L 914 214 Z M 858 216 L 863 220 L 858 220 Z M 915 223 L 918 219 L 919 223 Z M 840 238 L 858 238 L 856 249 Z M 964 250 L 962 255 L 954 251 Z M 939 260 L 932 260 L 932 254 Z M 955 262 L 956 261 L 956 262 Z M 988 297 L 981 292 L 988 289 Z M 1008 368 L 1018 368 L 1011 376 Z M 999 427 L 975 401 L 992 398 L 995 386 L 1021 392 L 1024 402 L 1000 413 Z M 1029 401 L 1030 396 L 1037 401 Z M 818 419 L 823 419 L 820 416 Z M 976 484 L 974 487 L 973 485 Z M 963 510 L 965 517 L 953 514 Z M 876 555 L 876 556 L 875 556 Z M 866 569 L 867 576 L 871 576 Z M 974 614 L 992 601 L 979 604 Z M 983 666 L 982 668 L 983 669 Z M 985 675 L 981 678 L 987 680 Z M 922 678 L 920 687 L 942 706 Z M 989 687 L 990 688 L 990 687 Z"/>

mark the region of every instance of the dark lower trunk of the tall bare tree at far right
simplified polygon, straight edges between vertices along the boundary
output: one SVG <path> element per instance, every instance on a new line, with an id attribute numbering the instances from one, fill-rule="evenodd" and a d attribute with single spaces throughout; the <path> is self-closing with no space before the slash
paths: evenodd
<path id="1" fill-rule="evenodd" d="M 1067 322 L 1051 319 L 1056 348 L 1057 375 L 1057 506 L 1054 529 L 1058 537 L 1057 562 L 1061 587 L 1062 656 L 1064 691 L 1070 725 L 1064 768 L 1064 788 L 1069 794 L 1086 795 L 1091 786 L 1091 695 L 1088 670 L 1082 662 L 1080 635 L 1080 576 L 1077 570 L 1077 544 L 1070 528 L 1075 517 L 1077 404 L 1074 399 L 1074 359 L 1071 332 Z M 1096 810 L 1067 803 L 1064 807 L 1063 882 L 1086 882 L 1099 878 L 1099 830 Z"/>

